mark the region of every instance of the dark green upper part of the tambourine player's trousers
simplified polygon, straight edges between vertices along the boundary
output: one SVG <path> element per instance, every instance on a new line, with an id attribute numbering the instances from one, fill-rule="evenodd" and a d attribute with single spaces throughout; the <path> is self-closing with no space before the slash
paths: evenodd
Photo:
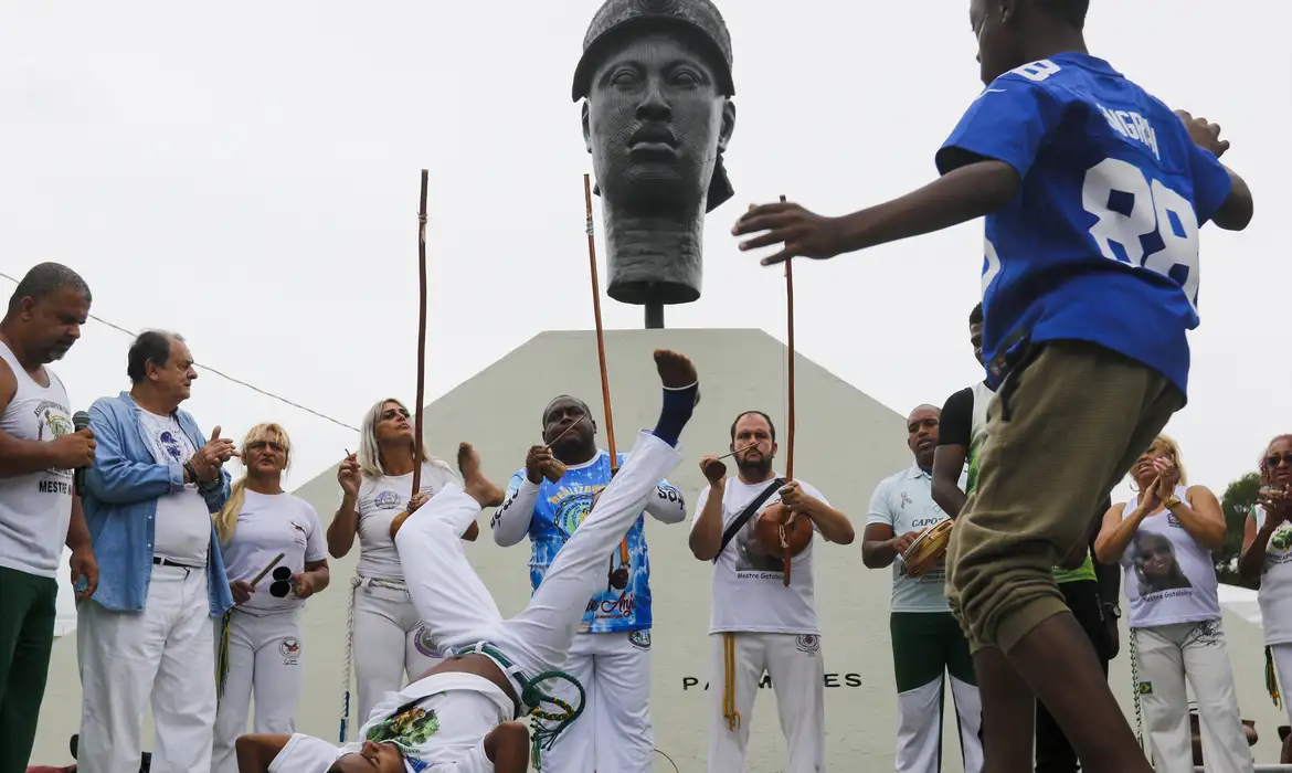
<path id="1" fill-rule="evenodd" d="M 943 671 L 978 685 L 969 642 L 950 611 L 894 611 L 889 615 L 889 631 L 898 693 L 938 681 Z"/>

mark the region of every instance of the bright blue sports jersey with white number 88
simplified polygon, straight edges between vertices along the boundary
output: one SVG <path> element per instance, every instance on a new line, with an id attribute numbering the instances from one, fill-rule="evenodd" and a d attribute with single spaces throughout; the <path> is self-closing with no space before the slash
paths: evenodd
<path id="1" fill-rule="evenodd" d="M 1216 156 L 1162 101 L 1081 53 L 992 81 L 938 150 L 938 169 L 972 156 L 1022 177 L 987 216 L 988 381 L 1000 384 L 1027 341 L 1066 339 L 1119 352 L 1186 392 L 1198 230 L 1231 186 Z"/>

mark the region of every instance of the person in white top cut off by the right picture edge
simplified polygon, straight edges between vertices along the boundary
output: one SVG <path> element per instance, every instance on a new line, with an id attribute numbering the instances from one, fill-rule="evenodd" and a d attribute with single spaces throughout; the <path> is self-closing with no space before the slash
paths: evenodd
<path id="1" fill-rule="evenodd" d="M 1278 684 L 1292 685 L 1292 434 L 1280 434 L 1261 456 L 1260 504 L 1243 531 L 1238 571 L 1260 579 L 1257 601 L 1265 628 L 1266 654 L 1274 661 Z M 1270 685 L 1274 688 L 1275 685 Z M 1283 695 L 1292 720 L 1292 703 Z"/>

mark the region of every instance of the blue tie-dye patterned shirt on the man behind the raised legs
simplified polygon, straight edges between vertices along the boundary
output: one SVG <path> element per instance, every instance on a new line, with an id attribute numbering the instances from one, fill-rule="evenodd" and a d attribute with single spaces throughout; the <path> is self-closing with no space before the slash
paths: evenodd
<path id="1" fill-rule="evenodd" d="M 623 465 L 624 455 L 619 454 Z M 510 499 L 525 480 L 522 468 L 508 483 L 506 496 Z M 530 518 L 530 583 L 536 589 L 543 575 L 552 566 L 557 551 L 579 529 L 592 508 L 592 498 L 610 485 L 610 454 L 598 451 L 597 458 L 587 464 L 570 467 L 566 474 L 553 483 L 543 478 L 539 486 L 539 499 Z M 681 492 L 668 481 L 662 481 L 656 496 L 680 502 Z M 614 566 L 611 566 L 611 561 Z M 588 601 L 580 631 L 590 633 L 610 633 L 614 631 L 643 631 L 651 627 L 650 610 L 650 555 L 646 552 L 646 526 L 642 516 L 637 516 L 628 530 L 628 586 L 623 591 L 610 587 L 609 579 L 601 593 Z M 618 567 L 620 553 L 606 556 L 606 575 Z"/>

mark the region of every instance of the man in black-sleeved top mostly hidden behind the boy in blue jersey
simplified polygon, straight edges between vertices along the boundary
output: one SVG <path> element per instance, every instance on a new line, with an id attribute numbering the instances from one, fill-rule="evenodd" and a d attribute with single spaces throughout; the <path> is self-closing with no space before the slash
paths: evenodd
<path id="1" fill-rule="evenodd" d="M 982 362 L 982 304 L 969 314 L 969 340 L 974 355 Z M 979 381 L 948 397 L 942 407 L 938 449 L 933 460 L 933 500 L 952 518 L 964 509 L 965 500 L 978 481 L 978 454 L 987 438 L 987 408 L 992 397 L 987 384 Z M 961 490 L 960 476 L 966 463 L 969 472 Z M 1072 615 L 1094 645 L 1105 675 L 1109 672 L 1109 661 L 1116 657 L 1120 644 L 1120 567 L 1097 564 L 1092 556 L 1092 544 L 1099 517 L 1110 507 L 1111 502 L 1106 502 L 1098 512 L 1092 513 L 1090 540 L 1083 545 L 1084 549 L 1068 556 L 1062 566 L 1054 567 L 1054 580 Z M 1054 717 L 1037 701 L 1036 773 L 1076 773 L 1079 769 L 1072 746 Z"/>

